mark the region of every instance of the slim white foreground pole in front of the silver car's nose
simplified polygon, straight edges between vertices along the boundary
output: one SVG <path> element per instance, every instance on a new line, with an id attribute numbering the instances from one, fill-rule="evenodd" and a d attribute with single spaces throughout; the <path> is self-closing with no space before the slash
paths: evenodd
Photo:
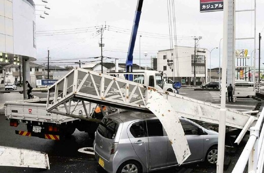
<path id="1" fill-rule="evenodd" d="M 222 57 L 222 90 L 221 90 L 221 108 L 219 112 L 219 134 L 218 134 L 218 158 L 217 158 L 217 173 L 223 173 L 224 165 L 224 139 L 225 139 L 225 87 L 226 87 L 226 65 L 227 65 L 227 38 L 228 38 L 228 4 L 232 0 L 226 1 L 224 3 L 224 13 L 223 13 L 223 57 Z M 233 1 L 232 1 L 233 3 Z"/>

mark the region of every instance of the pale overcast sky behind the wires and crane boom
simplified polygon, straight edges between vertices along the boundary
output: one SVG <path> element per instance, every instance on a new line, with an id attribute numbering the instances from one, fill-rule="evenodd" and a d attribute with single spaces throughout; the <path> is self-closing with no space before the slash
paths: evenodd
<path id="1" fill-rule="evenodd" d="M 264 1 L 256 0 L 257 4 L 257 47 L 258 33 L 264 35 Z M 72 65 L 65 62 L 87 62 L 96 59 L 85 59 L 85 57 L 96 57 L 101 55 L 98 46 L 100 35 L 98 30 L 106 24 L 103 35 L 103 55 L 119 58 L 120 63 L 125 63 L 129 46 L 130 33 L 133 25 L 137 0 L 53 0 L 48 4 L 41 0 L 35 0 L 36 4 L 47 5 L 49 15 L 42 14 L 45 19 L 36 16 L 37 30 L 37 61 L 43 64 L 47 61 L 47 50 L 50 50 L 51 62 L 65 60 L 56 65 Z M 200 13 L 199 0 L 175 0 L 176 27 L 178 36 L 201 36 L 199 47 L 212 50 L 219 47 L 222 38 L 223 12 Z M 237 10 L 253 8 L 253 1 L 239 0 L 236 3 Z M 38 10 L 45 10 L 44 6 L 36 6 Z M 254 13 L 236 13 L 237 25 L 236 36 L 254 36 Z M 97 26 L 97 27 L 94 27 Z M 79 28 L 79 29 L 76 29 Z M 54 31 L 59 30 L 59 31 Z M 50 31 L 50 32 L 42 32 Z M 56 34 L 54 34 L 56 33 Z M 77 34 L 70 34 L 77 33 Z M 58 35 L 59 34 L 59 35 Z M 142 35 L 139 39 L 139 35 Z M 138 37 L 134 50 L 134 63 L 150 66 L 151 56 L 156 56 L 158 50 L 170 49 L 168 9 L 166 0 L 144 0 L 141 20 L 139 24 Z M 263 37 L 264 38 L 264 37 Z M 141 41 L 140 41 L 141 40 Z M 141 46 L 139 46 L 141 42 Z M 264 43 L 262 43 L 264 44 Z M 193 39 L 178 39 L 179 46 L 194 47 Z M 222 45 L 221 45 L 222 46 Z M 141 55 L 139 53 L 141 47 Z M 261 46 L 263 47 L 263 46 Z M 254 41 L 237 41 L 236 49 L 248 49 L 249 54 L 254 50 Z M 262 49 L 263 50 L 263 49 Z M 261 50 L 263 54 L 264 51 Z M 145 61 L 144 52 L 148 52 Z M 219 49 L 212 51 L 212 68 L 219 66 Z M 256 55 L 258 57 L 258 53 Z M 113 60 L 107 59 L 107 62 Z M 249 60 L 250 61 L 250 60 Z M 264 60 L 261 60 L 261 65 Z M 262 65 L 263 66 L 263 65 Z M 209 67 L 208 67 L 209 68 Z"/>

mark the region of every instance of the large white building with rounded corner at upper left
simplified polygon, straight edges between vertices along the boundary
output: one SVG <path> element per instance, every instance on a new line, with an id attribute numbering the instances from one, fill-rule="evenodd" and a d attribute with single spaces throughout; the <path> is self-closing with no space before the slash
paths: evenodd
<path id="1" fill-rule="evenodd" d="M 36 13 L 32 0 L 0 1 L 0 64 L 24 64 L 30 81 L 29 62 L 36 60 Z M 0 87 L 3 87 L 1 85 Z"/>

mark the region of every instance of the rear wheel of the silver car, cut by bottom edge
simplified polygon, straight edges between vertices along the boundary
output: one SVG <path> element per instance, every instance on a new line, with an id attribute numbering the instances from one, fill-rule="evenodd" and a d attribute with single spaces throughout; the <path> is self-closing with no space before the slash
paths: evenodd
<path id="1" fill-rule="evenodd" d="M 122 163 L 116 171 L 116 173 L 122 173 L 122 172 L 142 173 L 142 167 L 140 163 L 130 160 Z"/>

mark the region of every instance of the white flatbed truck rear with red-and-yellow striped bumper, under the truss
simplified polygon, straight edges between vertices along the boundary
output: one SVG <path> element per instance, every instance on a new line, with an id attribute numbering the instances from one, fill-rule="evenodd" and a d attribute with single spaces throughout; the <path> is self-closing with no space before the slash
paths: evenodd
<path id="1" fill-rule="evenodd" d="M 16 134 L 61 140 L 73 134 L 77 128 L 79 131 L 85 131 L 93 137 L 101 120 L 89 117 L 89 121 L 85 121 L 49 113 L 46 110 L 46 101 L 47 99 L 39 99 L 5 103 L 5 116 L 10 122 L 10 126 L 19 127 L 20 123 L 26 124 L 27 131 L 15 130 Z M 72 105 L 72 107 L 75 107 L 75 105 Z M 78 106 L 74 112 L 81 116 L 84 109 Z"/>

